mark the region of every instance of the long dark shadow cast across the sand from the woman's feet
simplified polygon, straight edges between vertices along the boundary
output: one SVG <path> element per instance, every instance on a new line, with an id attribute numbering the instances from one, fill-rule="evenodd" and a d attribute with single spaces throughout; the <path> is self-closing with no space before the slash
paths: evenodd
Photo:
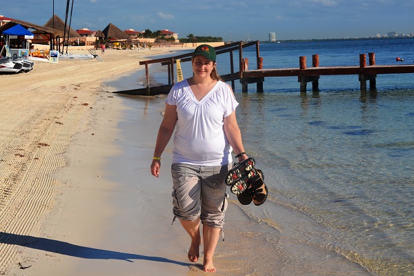
<path id="1" fill-rule="evenodd" d="M 133 262 L 133 259 L 142 259 L 152 262 L 164 262 L 170 264 L 178 264 L 179 266 L 190 266 L 184 262 L 177 262 L 172 259 L 163 257 L 152 257 L 146 255 L 122 253 L 117 251 L 103 250 L 98 248 L 90 248 L 86 246 L 77 246 L 68 242 L 60 242 L 54 239 L 46 239 L 43 237 L 31 237 L 26 235 L 16 235 L 0 232 L 0 244 L 14 244 L 17 246 L 26 246 L 38 250 L 48 251 L 50 253 L 58 253 L 72 257 L 83 259 L 119 259 L 127 262 Z"/>

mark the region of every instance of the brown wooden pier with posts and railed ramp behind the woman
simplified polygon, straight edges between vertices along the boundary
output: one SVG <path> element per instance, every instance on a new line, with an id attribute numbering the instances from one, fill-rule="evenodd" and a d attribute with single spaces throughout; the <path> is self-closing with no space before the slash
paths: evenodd
<path id="1" fill-rule="evenodd" d="M 246 47 L 255 46 L 256 48 L 256 68 L 249 70 L 248 59 L 243 58 L 243 49 Z M 298 68 L 273 68 L 263 69 L 263 58 L 259 56 L 259 41 L 250 43 L 243 43 L 242 41 L 236 43 L 226 44 L 224 46 L 215 47 L 217 55 L 229 53 L 230 55 L 230 74 L 220 75 L 224 81 L 230 81 L 233 90 L 235 90 L 235 81 L 239 80 L 242 83 L 242 91 L 248 92 L 248 83 L 257 83 L 257 92 L 263 91 L 263 81 L 266 77 L 297 77 L 300 83 L 300 91 L 306 92 L 307 83 L 312 83 L 312 90 L 319 90 L 319 77 L 322 75 L 358 75 L 361 91 L 366 90 L 366 82 L 369 81 L 369 88 L 376 89 L 376 78 L 380 74 L 406 74 L 414 73 L 414 65 L 388 65 L 378 66 L 375 64 L 375 53 L 368 53 L 368 66 L 366 65 L 366 54 L 359 55 L 359 66 L 328 66 L 319 67 L 319 55 L 312 56 L 312 67 L 306 66 L 306 57 L 299 57 Z M 239 68 L 237 72 L 234 68 L 233 52 L 237 51 Z M 144 65 L 146 69 L 146 88 L 137 88 L 132 90 L 122 90 L 116 93 L 127 95 L 159 95 L 168 94 L 172 86 L 175 84 L 175 66 L 177 60 L 182 62 L 191 61 L 189 52 L 184 55 L 177 55 L 175 57 L 167 57 L 164 59 L 151 59 L 147 61 L 140 61 L 140 65 Z M 150 75 L 148 66 L 152 63 L 161 63 L 163 66 L 168 66 L 168 84 L 164 86 L 150 86 Z M 221 66 L 222 68 L 222 66 Z M 224 70 L 224 69 L 221 69 Z"/>

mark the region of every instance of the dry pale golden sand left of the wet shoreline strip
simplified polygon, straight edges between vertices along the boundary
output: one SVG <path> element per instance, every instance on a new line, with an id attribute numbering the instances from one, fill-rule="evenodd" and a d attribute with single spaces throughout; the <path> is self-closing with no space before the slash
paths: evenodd
<path id="1" fill-rule="evenodd" d="M 171 50 L 107 50 L 102 62 L 39 61 L 31 72 L 0 75 L 0 274 L 71 275 L 64 257 L 101 239 L 116 187 L 103 162 L 119 152 L 123 110 L 101 82 Z M 55 254 L 62 248 L 67 256 Z"/>

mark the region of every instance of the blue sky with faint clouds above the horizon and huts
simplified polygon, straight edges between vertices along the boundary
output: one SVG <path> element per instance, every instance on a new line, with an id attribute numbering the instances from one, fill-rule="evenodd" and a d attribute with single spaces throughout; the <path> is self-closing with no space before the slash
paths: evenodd
<path id="1" fill-rule="evenodd" d="M 43 26 L 55 3 L 65 21 L 66 0 L 17 2 L 0 0 L 0 14 Z M 73 0 L 71 27 L 103 30 L 112 23 L 224 41 L 267 41 L 269 32 L 277 40 L 340 39 L 414 33 L 413 14 L 414 0 Z"/>

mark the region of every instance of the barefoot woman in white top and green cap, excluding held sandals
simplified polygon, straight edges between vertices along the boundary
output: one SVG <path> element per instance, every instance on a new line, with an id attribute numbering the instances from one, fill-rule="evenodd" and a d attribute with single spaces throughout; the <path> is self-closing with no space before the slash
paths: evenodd
<path id="1" fill-rule="evenodd" d="M 191 238 L 188 259 L 197 262 L 204 242 L 203 270 L 215 273 L 213 254 L 227 208 L 226 178 L 231 152 L 247 159 L 236 120 L 233 91 L 217 74 L 215 49 L 198 46 L 193 77 L 172 87 L 159 127 L 151 173 L 159 176 L 161 154 L 175 130 L 172 155 L 173 213 Z M 203 237 L 200 233 L 203 225 Z"/>

